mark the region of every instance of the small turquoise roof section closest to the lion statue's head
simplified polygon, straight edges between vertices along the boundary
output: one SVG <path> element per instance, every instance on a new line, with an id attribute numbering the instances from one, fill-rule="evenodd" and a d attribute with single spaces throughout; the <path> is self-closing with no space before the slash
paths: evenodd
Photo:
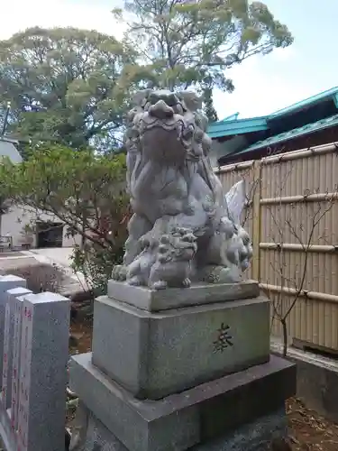
<path id="1" fill-rule="evenodd" d="M 224 121 L 214 122 L 209 125 L 207 133 L 210 138 L 221 138 L 223 136 L 260 132 L 268 129 L 266 117 L 252 117 L 251 119 L 224 119 Z"/>

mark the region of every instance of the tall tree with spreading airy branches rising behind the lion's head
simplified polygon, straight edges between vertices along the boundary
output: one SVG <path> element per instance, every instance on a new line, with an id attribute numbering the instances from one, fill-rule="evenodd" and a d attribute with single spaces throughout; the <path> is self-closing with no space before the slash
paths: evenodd
<path id="1" fill-rule="evenodd" d="M 124 40 L 139 53 L 151 84 L 200 89 L 211 116 L 211 89 L 233 90 L 225 69 L 293 41 L 266 5 L 248 0 L 125 0 L 124 11 L 114 10 L 119 18 L 123 13 Z"/>

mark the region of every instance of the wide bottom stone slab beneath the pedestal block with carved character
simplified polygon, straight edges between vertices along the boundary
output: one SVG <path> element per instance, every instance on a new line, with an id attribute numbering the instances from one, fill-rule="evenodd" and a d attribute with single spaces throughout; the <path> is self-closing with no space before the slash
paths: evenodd
<path id="1" fill-rule="evenodd" d="M 87 409 L 130 451 L 183 451 L 206 443 L 279 410 L 296 392 L 296 366 L 276 356 L 157 401 L 135 399 L 91 363 L 90 353 L 72 357 L 69 376 Z"/>

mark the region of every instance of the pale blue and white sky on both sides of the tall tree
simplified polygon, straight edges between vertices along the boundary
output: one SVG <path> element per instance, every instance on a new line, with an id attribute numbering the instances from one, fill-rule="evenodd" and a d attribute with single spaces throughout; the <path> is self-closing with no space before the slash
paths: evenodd
<path id="1" fill-rule="evenodd" d="M 75 26 L 121 36 L 114 0 L 11 0 L 1 5 L 0 39 L 27 27 Z M 338 0 L 265 0 L 295 37 L 286 50 L 252 57 L 229 71 L 233 94 L 215 92 L 219 117 L 266 115 L 338 85 Z"/>

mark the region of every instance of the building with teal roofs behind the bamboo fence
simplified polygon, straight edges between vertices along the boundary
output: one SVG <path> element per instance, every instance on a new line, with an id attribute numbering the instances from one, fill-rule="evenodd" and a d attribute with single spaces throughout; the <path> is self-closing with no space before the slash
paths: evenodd
<path id="1" fill-rule="evenodd" d="M 238 115 L 209 125 L 214 166 L 338 141 L 338 87 L 271 115 L 249 119 Z"/>

